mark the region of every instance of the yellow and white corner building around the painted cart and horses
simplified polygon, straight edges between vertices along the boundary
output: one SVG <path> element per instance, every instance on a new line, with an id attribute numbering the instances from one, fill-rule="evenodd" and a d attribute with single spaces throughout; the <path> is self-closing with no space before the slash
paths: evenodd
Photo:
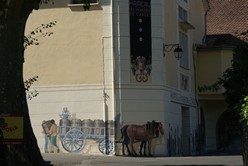
<path id="1" fill-rule="evenodd" d="M 116 140 L 123 123 L 161 122 L 165 134 L 153 140 L 154 155 L 198 154 L 194 45 L 202 44 L 205 12 L 205 1 L 198 0 L 101 0 L 90 11 L 55 0 L 31 14 L 27 33 L 57 21 L 51 37 L 26 50 L 25 78 L 39 76 L 29 110 L 41 151 L 41 122 L 59 124 L 66 107 L 74 119 L 114 120 Z M 165 44 L 179 44 L 183 58 Z M 79 153 L 100 152 L 88 139 Z"/>

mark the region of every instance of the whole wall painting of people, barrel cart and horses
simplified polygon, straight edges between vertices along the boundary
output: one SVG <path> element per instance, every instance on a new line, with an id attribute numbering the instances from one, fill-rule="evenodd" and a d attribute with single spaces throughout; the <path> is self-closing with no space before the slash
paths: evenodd
<path id="1" fill-rule="evenodd" d="M 97 147 L 98 153 L 102 154 L 125 155 L 127 150 L 128 155 L 137 156 L 136 151 L 139 150 L 139 155 L 152 156 L 152 148 L 158 145 L 155 139 L 163 138 L 164 135 L 161 122 L 151 120 L 143 125 L 124 124 L 120 123 L 119 114 L 115 120 L 107 121 L 78 119 L 65 107 L 60 118 L 58 125 L 53 119 L 42 121 L 45 153 L 59 153 L 61 150 L 69 153 L 96 153 L 92 147 Z"/>

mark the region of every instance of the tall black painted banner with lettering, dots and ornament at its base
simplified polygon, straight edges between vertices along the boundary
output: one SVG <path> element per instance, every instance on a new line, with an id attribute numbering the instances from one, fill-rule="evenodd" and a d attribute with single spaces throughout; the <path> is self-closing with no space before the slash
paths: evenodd
<path id="1" fill-rule="evenodd" d="M 129 0 L 131 81 L 151 82 L 152 41 L 150 0 Z"/>

